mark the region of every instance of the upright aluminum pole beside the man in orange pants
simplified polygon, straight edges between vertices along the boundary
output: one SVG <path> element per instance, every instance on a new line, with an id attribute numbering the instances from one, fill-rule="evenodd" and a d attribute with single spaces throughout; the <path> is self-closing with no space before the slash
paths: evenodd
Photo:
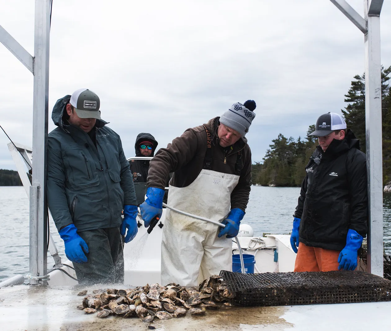
<path id="1" fill-rule="evenodd" d="M 365 44 L 365 127 L 368 171 L 367 271 L 383 277 L 383 169 L 380 10 L 382 0 L 364 0 L 367 21 Z M 369 6 L 376 8 L 369 13 Z M 380 8 L 379 8 L 380 6 Z"/>

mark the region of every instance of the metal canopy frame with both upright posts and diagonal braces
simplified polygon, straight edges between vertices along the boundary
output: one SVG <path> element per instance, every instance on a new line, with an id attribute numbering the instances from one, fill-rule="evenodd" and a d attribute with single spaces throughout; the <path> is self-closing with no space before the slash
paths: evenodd
<path id="1" fill-rule="evenodd" d="M 364 33 L 365 117 L 369 198 L 368 271 L 383 276 L 382 113 L 380 12 L 383 0 L 364 0 L 362 18 L 345 0 L 330 0 Z M 0 42 L 34 75 L 34 167 L 30 186 L 30 274 L 47 274 L 47 133 L 49 93 L 50 0 L 35 0 L 34 57 L 3 27 Z M 371 132 L 371 134 L 369 134 Z M 16 151 L 14 151 L 16 152 Z M 31 279 L 31 284 L 38 281 Z"/>

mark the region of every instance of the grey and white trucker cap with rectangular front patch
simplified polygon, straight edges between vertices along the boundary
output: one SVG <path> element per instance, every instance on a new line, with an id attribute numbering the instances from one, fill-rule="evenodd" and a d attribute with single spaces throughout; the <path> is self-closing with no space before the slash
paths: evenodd
<path id="1" fill-rule="evenodd" d="M 97 118 L 100 120 L 100 100 L 93 91 L 81 88 L 74 91 L 69 103 L 75 107 L 77 116 L 80 118 Z"/>

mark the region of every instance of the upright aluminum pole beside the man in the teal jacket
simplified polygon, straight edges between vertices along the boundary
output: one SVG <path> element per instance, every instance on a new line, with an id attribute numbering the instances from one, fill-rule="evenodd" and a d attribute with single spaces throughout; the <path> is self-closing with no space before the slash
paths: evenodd
<path id="1" fill-rule="evenodd" d="M 36 253 L 30 254 L 30 273 L 43 276 L 47 273 L 47 131 L 49 95 L 49 36 L 50 0 L 35 1 L 34 27 L 34 98 L 32 122 L 32 187 L 30 192 L 30 250 L 37 245 Z M 36 241 L 35 241 L 36 238 Z M 36 281 L 31 280 L 31 284 Z"/>

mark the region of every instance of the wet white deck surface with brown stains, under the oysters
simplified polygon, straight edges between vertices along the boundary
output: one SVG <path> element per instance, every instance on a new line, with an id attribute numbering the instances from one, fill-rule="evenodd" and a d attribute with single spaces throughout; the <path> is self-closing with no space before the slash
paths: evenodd
<path id="1" fill-rule="evenodd" d="M 113 288 L 113 287 L 111 287 Z M 120 286 L 117 288 L 125 288 Z M 389 330 L 391 302 L 319 304 L 278 307 L 224 307 L 204 316 L 144 323 L 139 318 L 109 316 L 77 310 L 81 289 L 70 286 L 13 286 L 0 289 L 0 330 L 116 331 L 148 330 Z M 94 288 L 87 288 L 91 293 Z"/>

